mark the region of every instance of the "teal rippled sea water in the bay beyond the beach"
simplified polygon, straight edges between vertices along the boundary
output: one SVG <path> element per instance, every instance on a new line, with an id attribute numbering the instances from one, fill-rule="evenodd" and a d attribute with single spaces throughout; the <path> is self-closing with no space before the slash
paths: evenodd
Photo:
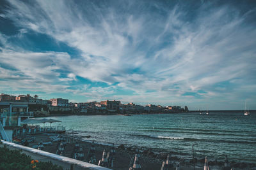
<path id="1" fill-rule="evenodd" d="M 243 111 L 209 111 L 156 115 L 93 115 L 52 117 L 61 120 L 66 130 L 73 129 L 87 141 L 152 148 L 155 152 L 230 161 L 256 162 L 256 113 Z"/>

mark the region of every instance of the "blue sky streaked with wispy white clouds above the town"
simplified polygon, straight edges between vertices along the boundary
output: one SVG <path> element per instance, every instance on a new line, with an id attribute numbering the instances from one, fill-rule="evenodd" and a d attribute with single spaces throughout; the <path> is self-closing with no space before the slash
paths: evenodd
<path id="1" fill-rule="evenodd" d="M 256 1 L 0 0 L 0 92 L 256 110 Z"/>

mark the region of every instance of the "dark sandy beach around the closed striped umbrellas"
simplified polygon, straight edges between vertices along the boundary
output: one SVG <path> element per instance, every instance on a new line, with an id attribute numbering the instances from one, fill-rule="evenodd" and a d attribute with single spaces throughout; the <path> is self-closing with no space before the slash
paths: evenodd
<path id="1" fill-rule="evenodd" d="M 92 145 L 89 141 L 83 141 L 79 136 L 76 137 L 74 134 L 36 134 L 34 135 L 35 141 L 33 143 L 29 143 L 30 147 L 36 148 L 38 143 L 42 140 L 43 143 L 47 143 L 52 141 L 52 137 L 60 137 L 63 136 L 66 138 L 67 136 L 74 136 L 75 141 L 74 143 L 67 143 L 67 146 L 65 146 L 65 150 L 63 152 L 63 156 L 65 157 L 72 157 L 72 152 L 75 147 L 76 141 L 78 141 L 79 146 L 83 147 L 84 152 L 84 159 L 83 161 L 88 162 L 87 156 L 88 156 L 88 150 L 90 148 L 90 145 Z M 33 137 L 33 136 L 30 136 Z M 76 140 L 77 139 L 77 140 Z M 49 145 L 44 145 L 44 151 L 56 153 L 57 150 L 57 141 L 52 141 Z M 102 145 L 98 144 L 97 141 L 95 141 L 95 157 L 97 162 L 102 158 L 102 152 L 105 149 L 107 152 L 109 152 L 111 148 L 111 145 Z M 116 154 L 115 154 L 115 160 L 113 162 L 113 167 L 111 169 L 114 170 L 127 170 L 129 169 L 129 162 L 131 160 L 131 157 L 134 156 L 135 150 L 134 148 L 125 147 L 124 145 L 120 145 L 116 147 Z M 150 150 L 141 150 L 140 148 L 140 164 L 141 169 L 146 170 L 160 170 L 162 162 L 166 160 L 167 153 L 154 153 Z M 186 160 L 179 157 L 171 157 L 171 160 L 173 162 L 173 166 L 176 166 L 176 164 L 180 164 L 180 169 L 193 169 L 193 162 L 191 160 Z M 211 169 L 221 169 L 224 162 L 214 162 L 212 160 L 209 160 L 209 165 L 211 166 Z M 236 166 L 236 169 L 253 169 L 255 168 L 255 164 L 241 164 L 236 162 L 231 162 L 232 166 Z M 195 169 L 202 169 L 204 167 L 204 158 L 202 159 L 196 159 Z M 173 167 L 174 169 L 174 167 Z"/>

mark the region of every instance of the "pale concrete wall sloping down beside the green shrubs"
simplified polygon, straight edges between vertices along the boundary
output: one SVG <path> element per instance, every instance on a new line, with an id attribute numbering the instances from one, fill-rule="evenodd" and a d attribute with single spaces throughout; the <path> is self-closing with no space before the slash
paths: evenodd
<path id="1" fill-rule="evenodd" d="M 63 157 L 53 153 L 45 152 L 42 150 L 36 150 L 34 148 L 29 148 L 26 146 L 18 145 L 15 143 L 10 143 L 1 140 L 0 147 L 9 148 L 10 150 L 20 150 L 21 153 L 29 155 L 32 159 L 37 159 L 42 162 L 51 161 L 53 164 L 63 167 L 63 169 L 90 169 L 90 170 L 111 170 L 106 167 L 95 166 L 94 164 L 89 164 L 81 160 L 71 159 L 68 157 Z"/>

